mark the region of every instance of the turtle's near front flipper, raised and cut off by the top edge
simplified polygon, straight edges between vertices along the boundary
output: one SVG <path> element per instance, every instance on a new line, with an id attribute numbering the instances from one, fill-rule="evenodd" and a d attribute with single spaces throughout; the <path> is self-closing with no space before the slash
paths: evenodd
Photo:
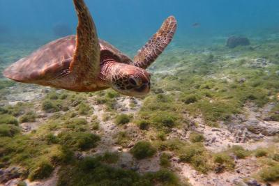
<path id="1" fill-rule="evenodd" d="M 84 0 L 73 0 L 77 11 L 77 39 L 70 72 L 78 79 L 95 79 L 100 72 L 100 45 L 96 26 Z"/>

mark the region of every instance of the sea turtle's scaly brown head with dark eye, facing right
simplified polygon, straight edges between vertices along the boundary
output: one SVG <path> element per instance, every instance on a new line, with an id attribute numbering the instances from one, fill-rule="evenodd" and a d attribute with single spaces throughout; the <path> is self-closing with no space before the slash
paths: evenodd
<path id="1" fill-rule="evenodd" d="M 121 65 L 111 79 L 112 88 L 129 96 L 142 97 L 150 91 L 149 72 L 133 65 Z"/>

